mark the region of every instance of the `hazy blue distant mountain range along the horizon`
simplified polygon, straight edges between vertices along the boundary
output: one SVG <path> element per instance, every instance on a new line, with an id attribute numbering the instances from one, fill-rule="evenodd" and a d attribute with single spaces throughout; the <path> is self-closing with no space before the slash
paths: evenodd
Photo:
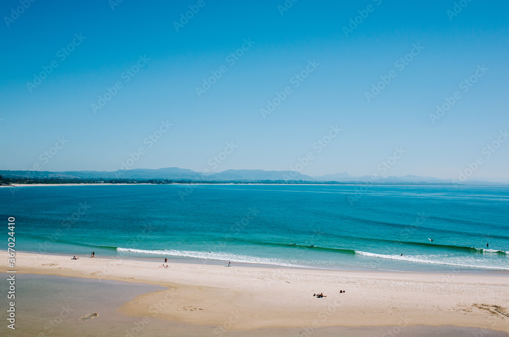
<path id="1" fill-rule="evenodd" d="M 202 174 L 178 167 L 161 169 L 132 169 L 117 171 L 9 171 L 0 170 L 6 178 L 28 179 L 171 179 L 171 180 L 196 180 L 196 181 L 229 181 L 229 182 L 260 182 L 260 181 L 309 181 L 315 183 L 343 182 L 343 183 L 403 183 L 403 184 L 451 184 L 460 183 L 451 179 L 439 179 L 434 177 L 420 177 L 416 175 L 378 177 L 373 180 L 371 176 L 352 176 L 348 172 L 326 174 L 312 177 L 296 171 L 264 171 L 264 170 L 226 170 L 219 173 Z M 473 178 L 462 182 L 464 185 L 509 185 L 506 178 Z"/>

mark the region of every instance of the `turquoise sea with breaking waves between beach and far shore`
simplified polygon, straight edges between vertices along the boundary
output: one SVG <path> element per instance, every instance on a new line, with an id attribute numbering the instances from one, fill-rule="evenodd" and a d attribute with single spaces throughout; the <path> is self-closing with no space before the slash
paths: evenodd
<path id="1" fill-rule="evenodd" d="M 54 186 L 1 188 L 0 202 L 5 222 L 16 218 L 16 248 L 23 251 L 332 269 L 509 270 L 507 187 Z"/>

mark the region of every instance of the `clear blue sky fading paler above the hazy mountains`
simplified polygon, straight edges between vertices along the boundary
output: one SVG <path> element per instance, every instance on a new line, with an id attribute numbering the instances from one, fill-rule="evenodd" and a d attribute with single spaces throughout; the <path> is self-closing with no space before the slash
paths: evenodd
<path id="1" fill-rule="evenodd" d="M 508 10 L 3 1 L 0 169 L 509 178 Z"/>

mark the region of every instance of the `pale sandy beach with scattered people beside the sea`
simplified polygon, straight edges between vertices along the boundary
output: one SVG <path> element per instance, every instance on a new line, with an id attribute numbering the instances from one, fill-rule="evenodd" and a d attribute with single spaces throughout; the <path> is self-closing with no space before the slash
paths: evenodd
<path id="1" fill-rule="evenodd" d="M 17 253 L 16 270 L 166 286 L 119 310 L 219 329 L 453 325 L 509 332 L 504 275 L 228 267 L 228 262 L 160 268 L 162 261 L 71 257 Z M 6 252 L 0 252 L 0 261 L 5 273 Z"/>

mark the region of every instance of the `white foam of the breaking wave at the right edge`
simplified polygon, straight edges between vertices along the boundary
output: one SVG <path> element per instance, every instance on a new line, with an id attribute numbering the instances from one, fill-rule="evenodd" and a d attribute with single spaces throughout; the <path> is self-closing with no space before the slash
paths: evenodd
<path id="1" fill-rule="evenodd" d="M 458 267 L 469 267 L 469 268 L 484 268 L 484 269 L 498 269 L 498 270 L 509 270 L 509 264 L 506 263 L 504 266 L 489 264 L 491 261 L 483 261 L 487 263 L 479 264 L 476 263 L 476 259 L 468 259 L 463 257 L 445 257 L 439 255 L 388 255 L 388 254 L 376 254 L 376 253 L 367 253 L 355 251 L 355 254 L 363 255 L 366 257 L 375 257 L 389 260 L 397 260 L 397 261 L 408 261 L 408 262 L 419 262 L 419 263 L 429 263 L 429 264 L 442 264 L 449 266 L 458 266 Z"/>

